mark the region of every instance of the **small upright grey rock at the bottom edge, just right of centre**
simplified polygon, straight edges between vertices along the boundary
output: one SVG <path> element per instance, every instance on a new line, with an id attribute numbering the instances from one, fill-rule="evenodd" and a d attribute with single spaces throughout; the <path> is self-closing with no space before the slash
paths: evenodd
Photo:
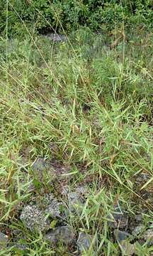
<path id="1" fill-rule="evenodd" d="M 79 233 L 79 238 L 77 240 L 77 247 L 79 252 L 84 252 L 84 250 L 89 250 L 91 246 L 91 236 L 86 233 Z"/>

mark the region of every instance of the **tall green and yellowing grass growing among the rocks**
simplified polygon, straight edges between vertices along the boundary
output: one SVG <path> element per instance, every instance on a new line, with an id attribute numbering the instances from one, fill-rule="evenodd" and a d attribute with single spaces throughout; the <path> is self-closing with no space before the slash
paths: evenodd
<path id="1" fill-rule="evenodd" d="M 13 230 L 20 230 L 27 249 L 8 247 L 0 255 L 77 255 L 76 248 L 50 247 L 41 233 L 30 233 L 18 218 L 24 204 L 46 191 L 62 198 L 64 182 L 72 190 L 78 184 L 88 188 L 81 213 L 67 220 L 75 235 L 84 230 L 98 239 L 96 248 L 84 255 L 120 255 L 108 227 L 117 203 L 131 223 L 143 211 L 142 223 L 148 228 L 152 34 L 145 28 L 125 34 L 122 28 L 111 35 L 82 28 L 67 43 L 55 44 L 26 36 L 7 41 L 7 51 L 1 38 L 1 231 L 11 241 Z M 40 183 L 32 168 L 38 156 L 70 166 L 69 173 L 57 178 L 46 172 Z M 148 180 L 137 183 L 144 172 Z M 150 193 L 147 199 L 145 193 Z M 152 249 L 137 242 L 137 255 L 151 255 Z"/>

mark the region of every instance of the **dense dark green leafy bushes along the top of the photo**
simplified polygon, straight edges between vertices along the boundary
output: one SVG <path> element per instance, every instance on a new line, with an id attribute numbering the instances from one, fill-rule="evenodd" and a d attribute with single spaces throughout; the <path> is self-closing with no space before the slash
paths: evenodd
<path id="1" fill-rule="evenodd" d="M 25 33 L 33 23 L 37 30 L 69 31 L 78 26 L 112 28 L 123 20 L 152 26 L 153 19 L 152 0 L 10 0 L 8 6 L 7 1 L 0 2 L 0 31 L 6 31 L 7 19 L 8 34 Z"/>

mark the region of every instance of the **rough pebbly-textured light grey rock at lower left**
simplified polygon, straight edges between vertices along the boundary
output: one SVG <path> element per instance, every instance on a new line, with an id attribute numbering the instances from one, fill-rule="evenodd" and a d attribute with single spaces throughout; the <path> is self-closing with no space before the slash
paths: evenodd
<path id="1" fill-rule="evenodd" d="M 44 231 L 50 228 L 45 214 L 37 206 L 25 206 L 20 218 L 31 231 Z"/>

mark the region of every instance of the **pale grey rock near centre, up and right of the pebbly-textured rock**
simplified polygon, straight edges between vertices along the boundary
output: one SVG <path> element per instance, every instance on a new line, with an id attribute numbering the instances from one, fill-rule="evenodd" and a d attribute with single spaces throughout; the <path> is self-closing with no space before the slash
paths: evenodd
<path id="1" fill-rule="evenodd" d="M 82 206 L 82 198 L 79 193 L 70 192 L 67 194 L 69 201 L 69 210 L 74 212 L 75 210 L 79 210 Z"/>

